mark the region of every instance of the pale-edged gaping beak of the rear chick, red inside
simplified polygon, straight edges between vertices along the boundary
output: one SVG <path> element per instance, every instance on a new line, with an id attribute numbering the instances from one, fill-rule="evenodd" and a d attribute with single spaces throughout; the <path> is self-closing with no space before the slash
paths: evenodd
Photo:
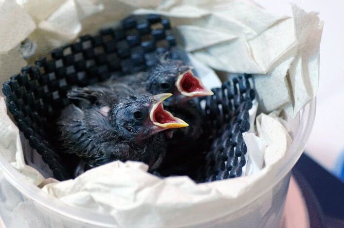
<path id="1" fill-rule="evenodd" d="M 207 89 L 202 81 L 192 73 L 192 69 L 192 66 L 187 66 L 187 70 L 178 76 L 176 87 L 179 92 L 191 98 L 213 95 L 214 93 Z"/>

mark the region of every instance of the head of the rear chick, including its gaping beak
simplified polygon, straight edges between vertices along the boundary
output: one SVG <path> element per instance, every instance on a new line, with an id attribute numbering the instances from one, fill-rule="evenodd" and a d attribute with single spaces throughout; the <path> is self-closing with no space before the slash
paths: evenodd
<path id="1" fill-rule="evenodd" d="M 152 68 L 147 80 L 147 92 L 151 94 L 172 93 L 168 105 L 177 105 L 191 98 L 213 95 L 192 73 L 192 66 L 180 60 L 161 60 Z"/>

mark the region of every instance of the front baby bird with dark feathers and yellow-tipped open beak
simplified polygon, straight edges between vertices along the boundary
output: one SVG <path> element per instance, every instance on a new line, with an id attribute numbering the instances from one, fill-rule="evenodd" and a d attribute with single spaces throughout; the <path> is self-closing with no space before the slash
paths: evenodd
<path id="1" fill-rule="evenodd" d="M 57 122 L 61 148 L 76 154 L 91 167 L 132 160 L 144 162 L 150 171 L 155 170 L 166 153 L 162 131 L 188 126 L 163 109 L 163 100 L 170 96 L 132 95 L 106 111 L 97 105 L 87 109 L 70 105 Z"/>

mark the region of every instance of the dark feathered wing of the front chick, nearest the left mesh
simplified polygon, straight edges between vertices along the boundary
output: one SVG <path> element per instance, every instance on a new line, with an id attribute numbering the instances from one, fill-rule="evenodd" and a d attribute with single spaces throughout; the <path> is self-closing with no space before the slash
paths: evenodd
<path id="1" fill-rule="evenodd" d="M 73 104 L 66 107 L 57 121 L 57 130 L 62 151 L 86 160 L 109 159 L 104 145 L 117 141 L 109 117 L 96 106 L 85 110 Z"/>

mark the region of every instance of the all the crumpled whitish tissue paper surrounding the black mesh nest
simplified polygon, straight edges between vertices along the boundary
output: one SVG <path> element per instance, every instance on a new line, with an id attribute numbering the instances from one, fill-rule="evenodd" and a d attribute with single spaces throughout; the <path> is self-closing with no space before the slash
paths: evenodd
<path id="1" fill-rule="evenodd" d="M 317 92 L 323 22 L 316 13 L 291 7 L 293 17 L 274 15 L 249 0 L 0 0 L 0 80 L 26 64 L 18 52 L 25 38 L 37 46 L 27 59 L 31 63 L 124 16 L 156 13 L 169 16 L 190 58 L 201 65 L 253 74 L 259 107 L 252 116 L 256 109 L 284 109 L 295 117 Z M 212 82 L 215 86 L 219 81 Z M 250 175 L 245 177 L 196 184 L 187 177 L 159 179 L 147 173 L 143 163 L 113 162 L 76 179 L 46 184 L 25 164 L 18 128 L 0 99 L 1 156 L 29 182 L 44 186 L 47 194 L 75 207 L 109 213 L 114 225 L 123 227 L 194 225 L 252 202 L 286 162 L 292 134 L 284 126 L 279 114 L 257 117 L 257 129 L 244 135 L 248 147 L 257 151 L 248 153 L 245 174 Z"/>

